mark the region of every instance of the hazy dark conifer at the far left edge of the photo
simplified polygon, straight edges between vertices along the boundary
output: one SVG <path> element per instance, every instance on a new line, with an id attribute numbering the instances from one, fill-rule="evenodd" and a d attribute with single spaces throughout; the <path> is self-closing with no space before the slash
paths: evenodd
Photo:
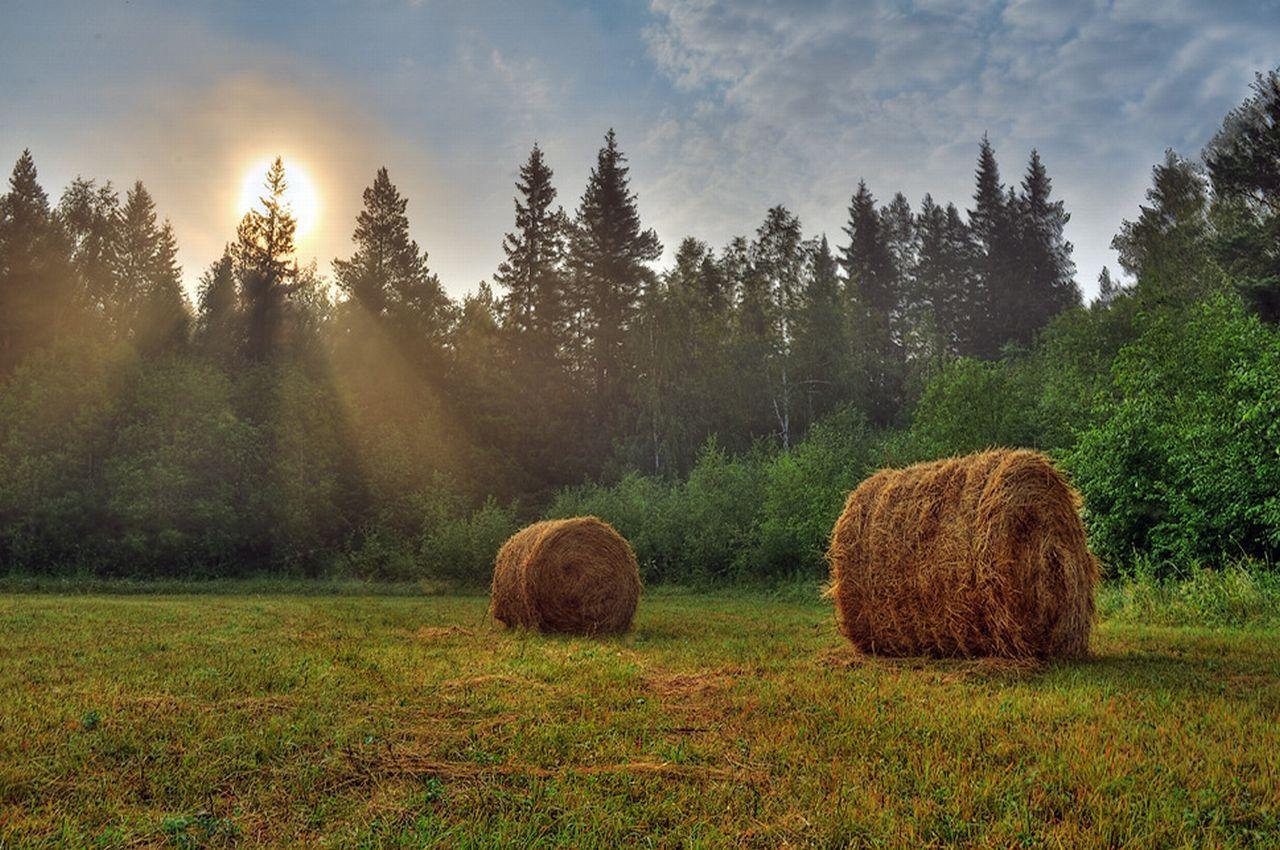
<path id="1" fill-rule="evenodd" d="M 24 150 L 0 197 L 0 379 L 68 326 L 76 306 L 70 248 Z"/>

